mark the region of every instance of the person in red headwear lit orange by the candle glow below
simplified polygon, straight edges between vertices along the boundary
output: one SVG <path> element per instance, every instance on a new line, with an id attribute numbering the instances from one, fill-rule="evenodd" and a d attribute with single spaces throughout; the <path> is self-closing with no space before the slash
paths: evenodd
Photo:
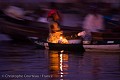
<path id="1" fill-rule="evenodd" d="M 55 6 L 55 3 L 51 3 L 51 10 L 48 12 L 47 20 L 49 21 L 49 37 L 48 42 L 58 43 L 62 31 L 59 27 L 61 20 L 60 14 Z"/>

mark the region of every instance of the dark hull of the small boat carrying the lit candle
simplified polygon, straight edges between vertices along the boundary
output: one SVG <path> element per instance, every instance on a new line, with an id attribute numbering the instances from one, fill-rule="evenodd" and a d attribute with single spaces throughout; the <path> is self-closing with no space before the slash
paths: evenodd
<path id="1" fill-rule="evenodd" d="M 49 49 L 49 50 L 65 50 L 65 51 L 80 51 L 84 52 L 85 49 L 81 43 L 79 44 L 59 44 L 59 43 L 48 43 L 45 41 L 34 40 L 34 43 L 39 49 Z"/>

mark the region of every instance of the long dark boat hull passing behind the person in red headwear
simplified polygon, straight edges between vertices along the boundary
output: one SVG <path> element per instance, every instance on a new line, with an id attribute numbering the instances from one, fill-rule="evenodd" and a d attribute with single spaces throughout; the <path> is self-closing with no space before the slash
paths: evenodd
<path id="1" fill-rule="evenodd" d="M 27 37 L 39 37 L 47 39 L 49 27 L 47 23 L 35 22 L 30 20 L 18 20 L 5 16 L 0 18 L 0 32 L 9 35 L 12 39 L 27 40 Z M 62 26 L 65 35 L 74 35 L 80 32 L 78 28 Z M 44 35 L 44 36 L 43 36 Z M 28 39 L 29 40 L 29 39 Z"/>

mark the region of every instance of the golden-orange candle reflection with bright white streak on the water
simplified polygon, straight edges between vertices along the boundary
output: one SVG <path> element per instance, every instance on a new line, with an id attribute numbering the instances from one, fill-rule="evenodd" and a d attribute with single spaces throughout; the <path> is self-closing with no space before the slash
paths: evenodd
<path id="1" fill-rule="evenodd" d="M 53 78 L 63 79 L 68 74 L 68 59 L 68 53 L 64 53 L 64 51 L 49 52 L 49 69 Z"/>

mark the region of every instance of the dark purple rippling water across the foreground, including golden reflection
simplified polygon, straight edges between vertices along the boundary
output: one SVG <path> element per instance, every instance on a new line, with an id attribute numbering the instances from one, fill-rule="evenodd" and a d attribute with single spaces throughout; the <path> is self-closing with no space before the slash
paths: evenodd
<path id="1" fill-rule="evenodd" d="M 0 80 L 120 80 L 120 53 L 62 53 L 0 42 Z"/>

